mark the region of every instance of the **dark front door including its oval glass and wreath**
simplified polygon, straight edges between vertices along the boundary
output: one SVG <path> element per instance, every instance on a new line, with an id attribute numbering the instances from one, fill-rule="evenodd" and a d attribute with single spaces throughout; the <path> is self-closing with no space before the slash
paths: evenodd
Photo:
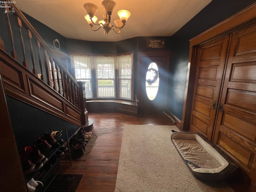
<path id="1" fill-rule="evenodd" d="M 170 52 L 138 53 L 138 112 L 163 112 L 167 104 Z"/>

